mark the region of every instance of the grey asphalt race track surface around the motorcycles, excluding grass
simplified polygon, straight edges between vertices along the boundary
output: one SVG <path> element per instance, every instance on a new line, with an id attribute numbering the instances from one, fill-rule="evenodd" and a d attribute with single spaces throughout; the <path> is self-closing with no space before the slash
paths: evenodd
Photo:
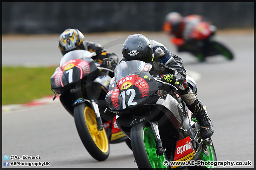
<path id="1" fill-rule="evenodd" d="M 133 33 L 85 34 L 85 38 L 100 43 L 120 59 L 122 44 L 130 34 Z M 254 35 L 217 34 L 216 39 L 234 52 L 235 60 L 214 56 L 204 63 L 199 63 L 189 53 L 177 53 L 163 33 L 144 35 L 179 55 L 187 74 L 196 79 L 197 96 L 212 119 L 212 140 L 218 161 L 251 161 L 252 166 L 234 168 L 254 168 Z M 3 66 L 58 66 L 60 58 L 58 35 L 2 38 Z M 9 164 L 15 161 L 50 162 L 50 166 L 44 166 L 47 168 L 137 167 L 126 143 L 111 144 L 110 155 L 104 162 L 92 158 L 80 141 L 73 117 L 60 102 L 3 113 L 2 155 L 39 155 L 39 160 L 9 158 Z"/>

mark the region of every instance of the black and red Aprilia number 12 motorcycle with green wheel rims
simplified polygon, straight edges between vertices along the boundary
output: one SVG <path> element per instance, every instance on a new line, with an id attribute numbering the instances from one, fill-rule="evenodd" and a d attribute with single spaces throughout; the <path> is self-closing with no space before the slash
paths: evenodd
<path id="1" fill-rule="evenodd" d="M 117 114 L 117 126 L 131 140 L 138 168 L 185 167 L 175 163 L 188 160 L 216 162 L 211 138 L 201 139 L 198 121 L 175 93 L 177 88 L 150 75 L 151 68 L 143 61 L 119 64 L 106 95 L 105 113 Z M 194 80 L 186 80 L 197 94 Z"/>

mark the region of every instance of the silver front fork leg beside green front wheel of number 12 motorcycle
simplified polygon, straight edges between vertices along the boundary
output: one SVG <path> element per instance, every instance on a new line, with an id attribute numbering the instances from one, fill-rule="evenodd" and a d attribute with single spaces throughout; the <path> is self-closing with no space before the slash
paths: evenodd
<path id="1" fill-rule="evenodd" d="M 164 154 L 164 152 L 166 152 L 166 149 L 163 149 L 163 147 L 162 147 L 162 141 L 161 141 L 160 134 L 159 134 L 159 129 L 158 129 L 158 122 L 157 121 L 150 121 L 149 123 L 151 125 L 151 128 L 152 128 L 154 136 L 155 136 L 156 154 L 161 156 L 161 155 Z"/>

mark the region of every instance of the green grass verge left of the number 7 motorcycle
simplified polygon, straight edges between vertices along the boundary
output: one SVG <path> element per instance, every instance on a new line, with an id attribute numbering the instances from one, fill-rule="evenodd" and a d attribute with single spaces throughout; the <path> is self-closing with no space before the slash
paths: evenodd
<path id="1" fill-rule="evenodd" d="M 2 105 L 22 104 L 53 95 L 50 77 L 56 67 L 2 67 Z"/>

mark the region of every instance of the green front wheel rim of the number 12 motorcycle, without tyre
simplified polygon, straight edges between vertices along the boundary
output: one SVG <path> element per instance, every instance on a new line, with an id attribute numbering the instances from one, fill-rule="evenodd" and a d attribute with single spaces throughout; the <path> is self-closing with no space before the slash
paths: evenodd
<path id="1" fill-rule="evenodd" d="M 159 156 L 156 154 L 155 136 L 149 127 L 145 127 L 143 129 L 143 141 L 152 168 L 166 169 L 166 166 L 163 164 L 165 161 L 165 155 L 163 154 Z"/>

